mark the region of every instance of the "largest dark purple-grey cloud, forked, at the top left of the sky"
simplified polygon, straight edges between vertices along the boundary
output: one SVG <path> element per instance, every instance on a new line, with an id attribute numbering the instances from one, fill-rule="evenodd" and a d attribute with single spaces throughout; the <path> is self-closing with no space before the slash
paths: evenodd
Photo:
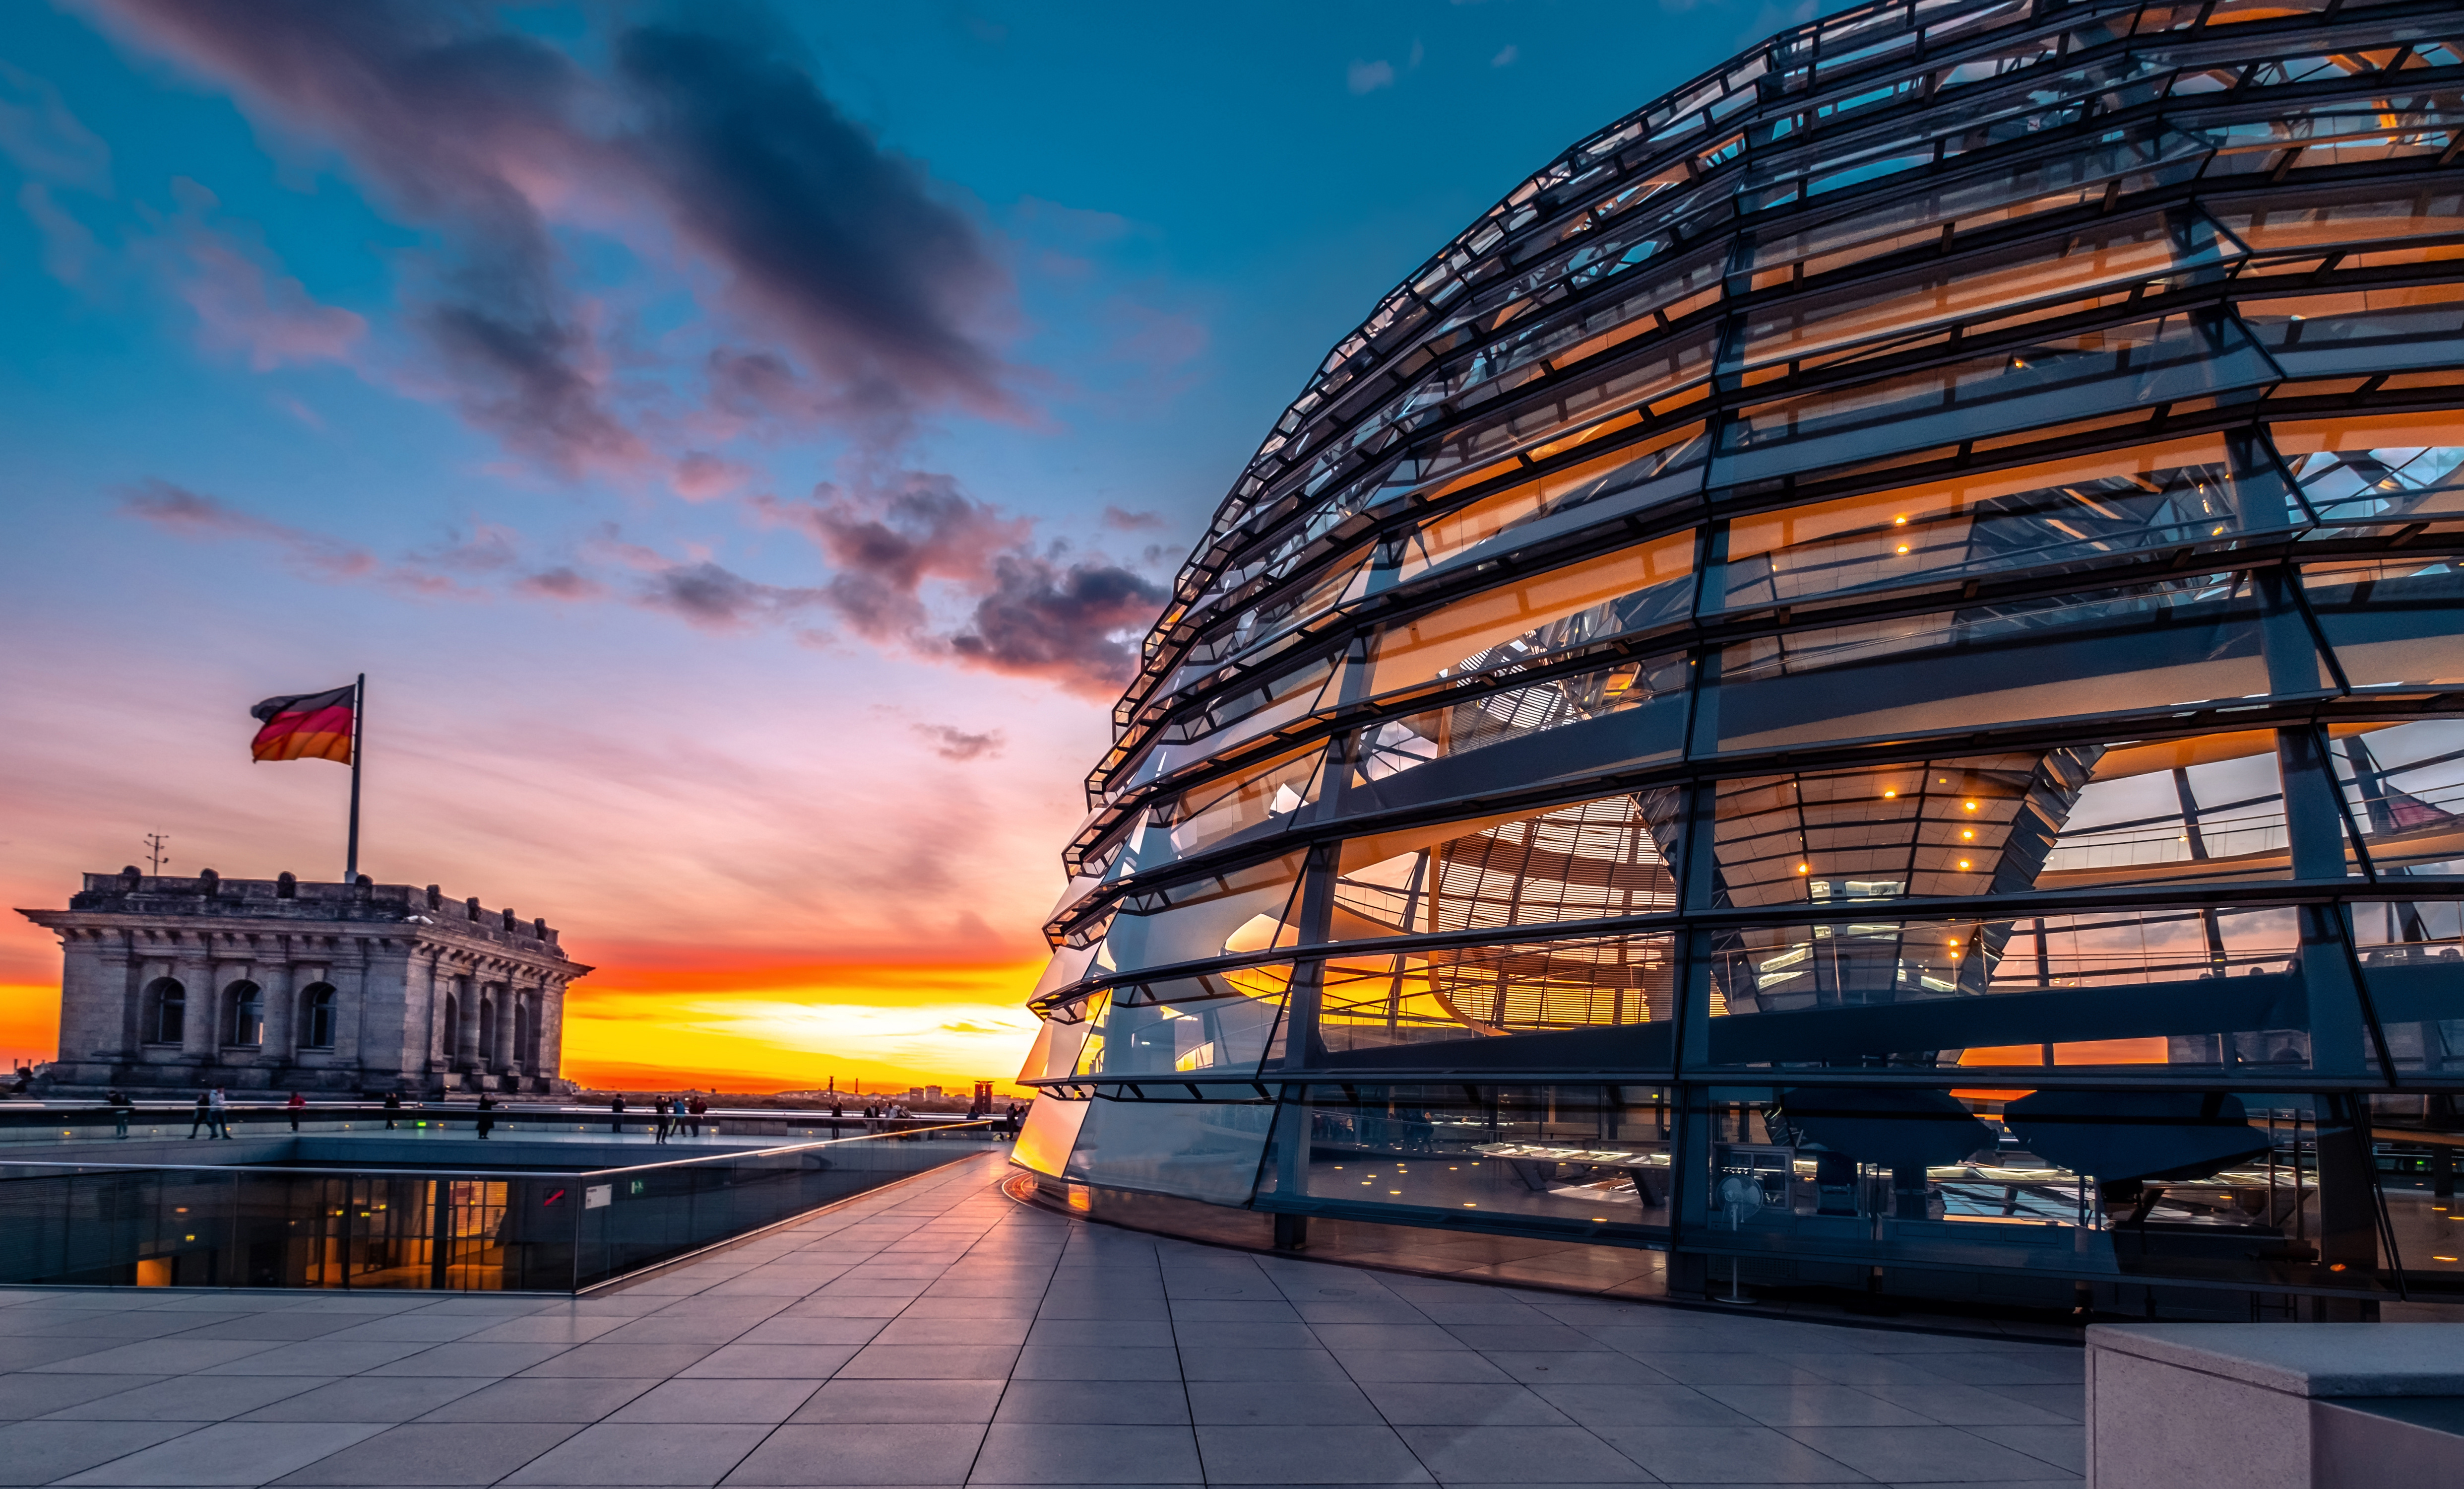
<path id="1" fill-rule="evenodd" d="M 480 5 L 96 0 L 140 44 L 333 143 L 444 234 L 411 320 L 444 397 L 562 471 L 648 468 L 554 229 L 700 256 L 774 348 L 712 355 L 715 407 L 894 436 L 1008 412 L 978 335 L 1010 296 L 966 212 L 813 84 L 781 30 L 631 25 L 606 71 Z M 695 12 L 707 20 L 717 12 Z M 729 12 L 739 20 L 749 12 Z"/>

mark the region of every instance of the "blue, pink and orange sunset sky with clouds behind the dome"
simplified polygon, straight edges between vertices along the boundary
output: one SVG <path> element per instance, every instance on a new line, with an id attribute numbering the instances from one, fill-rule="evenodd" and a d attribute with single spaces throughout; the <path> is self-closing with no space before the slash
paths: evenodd
<path id="1" fill-rule="evenodd" d="M 10 5 L 0 887 L 545 915 L 582 1080 L 1008 1080 L 1106 708 L 1326 348 L 1811 5 Z M 59 954 L 0 927 L 0 1053 Z"/>

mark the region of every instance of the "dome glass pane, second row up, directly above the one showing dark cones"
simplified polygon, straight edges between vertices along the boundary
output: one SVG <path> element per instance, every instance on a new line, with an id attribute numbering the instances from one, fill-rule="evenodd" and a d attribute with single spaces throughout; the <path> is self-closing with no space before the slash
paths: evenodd
<path id="1" fill-rule="evenodd" d="M 1715 932 L 1710 957 L 1722 1067 L 2311 1065 L 2294 910 L 1875 915 Z"/>

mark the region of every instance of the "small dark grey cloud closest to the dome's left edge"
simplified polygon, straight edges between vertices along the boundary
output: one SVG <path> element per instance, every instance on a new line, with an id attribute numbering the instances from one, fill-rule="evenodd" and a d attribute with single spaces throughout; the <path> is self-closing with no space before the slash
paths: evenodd
<path id="1" fill-rule="evenodd" d="M 1163 599 L 1161 584 L 1131 569 L 1010 552 L 993 562 L 991 594 L 949 648 L 995 673 L 1104 698 L 1136 671 L 1138 636 Z"/>

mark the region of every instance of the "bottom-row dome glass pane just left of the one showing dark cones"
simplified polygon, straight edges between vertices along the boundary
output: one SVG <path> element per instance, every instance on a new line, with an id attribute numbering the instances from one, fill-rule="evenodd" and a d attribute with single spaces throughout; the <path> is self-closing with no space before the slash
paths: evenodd
<path id="1" fill-rule="evenodd" d="M 1668 1127 L 1666 1092 L 1643 1085 L 1316 1085 L 1284 1109 L 1259 1193 L 1432 1220 L 1663 1228 Z"/>

